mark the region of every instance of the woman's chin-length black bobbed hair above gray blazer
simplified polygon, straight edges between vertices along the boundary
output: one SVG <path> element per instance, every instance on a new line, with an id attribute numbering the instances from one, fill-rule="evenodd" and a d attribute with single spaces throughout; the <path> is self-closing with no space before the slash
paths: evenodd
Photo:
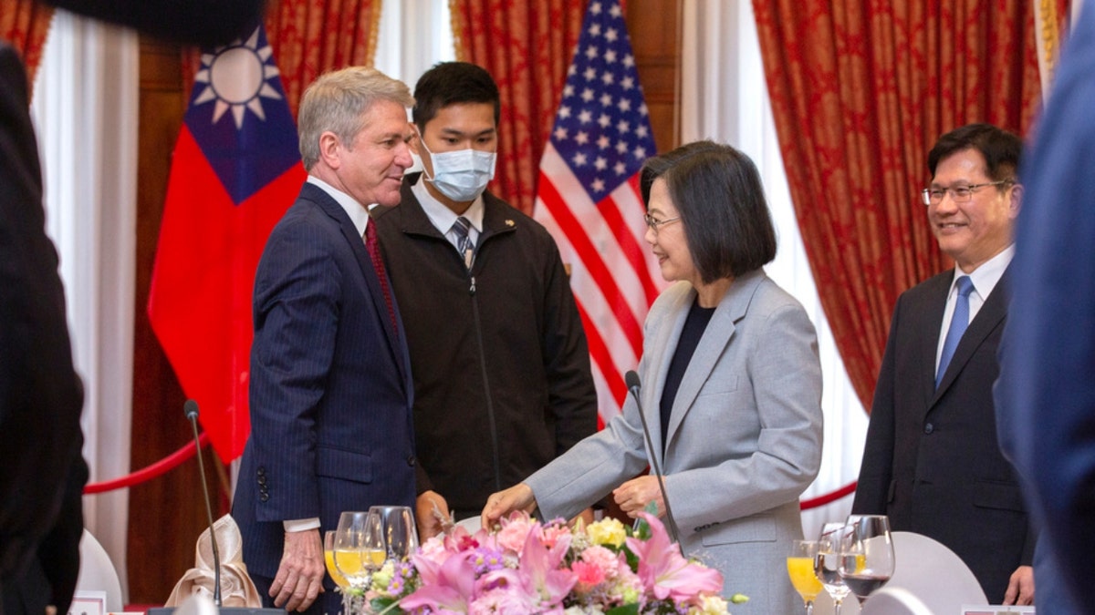
<path id="1" fill-rule="evenodd" d="M 639 178 L 647 208 L 650 186 L 659 178 L 669 188 L 704 283 L 739 277 L 775 258 L 772 214 L 749 156 L 730 146 L 695 141 L 647 160 Z"/>

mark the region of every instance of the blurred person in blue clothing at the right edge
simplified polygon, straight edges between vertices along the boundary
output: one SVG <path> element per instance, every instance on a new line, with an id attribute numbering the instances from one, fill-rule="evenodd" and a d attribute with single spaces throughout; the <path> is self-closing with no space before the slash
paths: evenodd
<path id="1" fill-rule="evenodd" d="M 1095 572 L 1095 7 L 1085 5 L 1019 176 L 996 430 L 1041 533 L 1038 613 L 1085 613 Z"/>

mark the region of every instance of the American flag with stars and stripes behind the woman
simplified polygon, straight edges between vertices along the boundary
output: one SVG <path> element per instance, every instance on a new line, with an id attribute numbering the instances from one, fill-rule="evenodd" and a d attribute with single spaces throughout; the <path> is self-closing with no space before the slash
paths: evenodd
<path id="1" fill-rule="evenodd" d="M 643 241 L 638 171 L 654 137 L 620 3 L 592 1 L 540 161 L 534 217 L 554 235 L 581 314 L 600 417 L 619 414 L 643 320 L 662 288 Z"/>

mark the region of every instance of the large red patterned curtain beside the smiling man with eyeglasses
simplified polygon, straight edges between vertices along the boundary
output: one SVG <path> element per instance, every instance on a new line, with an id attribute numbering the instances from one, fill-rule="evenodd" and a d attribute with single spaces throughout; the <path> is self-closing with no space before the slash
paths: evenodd
<path id="1" fill-rule="evenodd" d="M 927 151 L 965 124 L 1034 120 L 1031 4 L 753 0 L 806 253 L 867 408 L 898 295 L 953 265 L 920 201 Z"/>

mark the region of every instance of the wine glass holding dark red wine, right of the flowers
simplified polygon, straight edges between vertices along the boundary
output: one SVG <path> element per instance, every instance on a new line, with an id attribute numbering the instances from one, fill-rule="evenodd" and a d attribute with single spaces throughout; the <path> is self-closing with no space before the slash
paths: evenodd
<path id="1" fill-rule="evenodd" d="M 840 548 L 840 576 L 860 604 L 894 576 L 894 541 L 885 514 L 849 518 Z"/>

